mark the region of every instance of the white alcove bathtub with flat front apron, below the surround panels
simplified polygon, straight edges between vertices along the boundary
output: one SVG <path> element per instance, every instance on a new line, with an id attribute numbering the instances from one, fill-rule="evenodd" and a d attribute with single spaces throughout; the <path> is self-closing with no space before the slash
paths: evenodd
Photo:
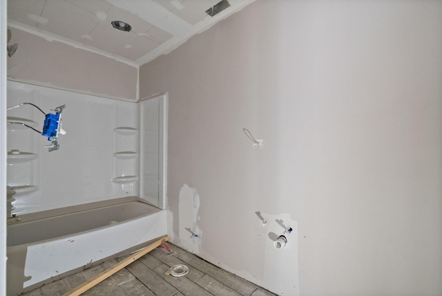
<path id="1" fill-rule="evenodd" d="M 7 295 L 19 295 L 166 235 L 166 212 L 136 196 L 19 216 L 7 226 Z M 15 220 L 16 221 L 16 220 Z"/>

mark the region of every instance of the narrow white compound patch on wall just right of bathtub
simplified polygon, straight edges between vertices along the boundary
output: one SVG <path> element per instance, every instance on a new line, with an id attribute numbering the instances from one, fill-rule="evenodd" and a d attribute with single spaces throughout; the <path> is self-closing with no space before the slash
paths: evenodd
<path id="1" fill-rule="evenodd" d="M 201 247 L 202 231 L 197 225 L 200 220 L 200 196 L 195 188 L 182 185 L 180 189 L 179 211 L 179 235 L 182 247 L 198 254 Z"/>

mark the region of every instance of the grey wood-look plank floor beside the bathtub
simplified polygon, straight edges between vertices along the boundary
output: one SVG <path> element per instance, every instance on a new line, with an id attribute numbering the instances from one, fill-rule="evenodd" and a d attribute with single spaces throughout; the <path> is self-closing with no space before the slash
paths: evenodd
<path id="1" fill-rule="evenodd" d="M 178 248 L 172 244 L 172 254 L 166 254 L 157 248 L 144 257 L 119 270 L 90 290 L 85 296 L 271 296 L 269 291 L 251 284 L 249 281 L 222 270 L 199 257 Z M 83 270 L 59 279 L 50 284 L 32 290 L 26 296 L 56 296 L 63 295 L 84 281 L 94 277 L 99 272 L 111 268 L 117 258 L 105 261 L 99 266 Z M 176 264 L 185 264 L 189 273 L 183 277 L 166 275 L 166 271 Z"/>

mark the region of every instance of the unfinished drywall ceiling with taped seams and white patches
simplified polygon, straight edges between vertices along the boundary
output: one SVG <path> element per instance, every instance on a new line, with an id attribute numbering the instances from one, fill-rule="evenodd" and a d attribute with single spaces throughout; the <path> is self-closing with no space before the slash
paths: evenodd
<path id="1" fill-rule="evenodd" d="M 229 8 L 207 15 L 219 1 L 9 0 L 8 26 L 140 66 L 255 0 L 228 0 Z M 111 21 L 132 30 L 119 31 Z"/>

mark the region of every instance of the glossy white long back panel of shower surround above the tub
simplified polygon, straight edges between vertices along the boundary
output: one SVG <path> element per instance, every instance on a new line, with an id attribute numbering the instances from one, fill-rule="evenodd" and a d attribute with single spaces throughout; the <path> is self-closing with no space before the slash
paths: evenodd
<path id="1" fill-rule="evenodd" d="M 115 159 L 123 148 L 137 156 L 136 138 L 115 132 L 119 127 L 137 129 L 137 104 L 8 81 L 8 107 L 23 102 L 36 104 L 44 113 L 66 105 L 61 112 L 66 135 L 59 136 L 58 150 L 48 151 L 46 137 L 21 124 L 8 124 L 8 186 L 28 186 L 17 190 L 12 214 L 138 195 L 137 178 L 115 182 L 139 171 L 136 158 L 124 165 Z M 28 125 L 41 131 L 45 116 L 26 104 L 9 110 L 11 118 L 30 120 Z M 12 150 L 32 157 L 14 163 Z"/>

